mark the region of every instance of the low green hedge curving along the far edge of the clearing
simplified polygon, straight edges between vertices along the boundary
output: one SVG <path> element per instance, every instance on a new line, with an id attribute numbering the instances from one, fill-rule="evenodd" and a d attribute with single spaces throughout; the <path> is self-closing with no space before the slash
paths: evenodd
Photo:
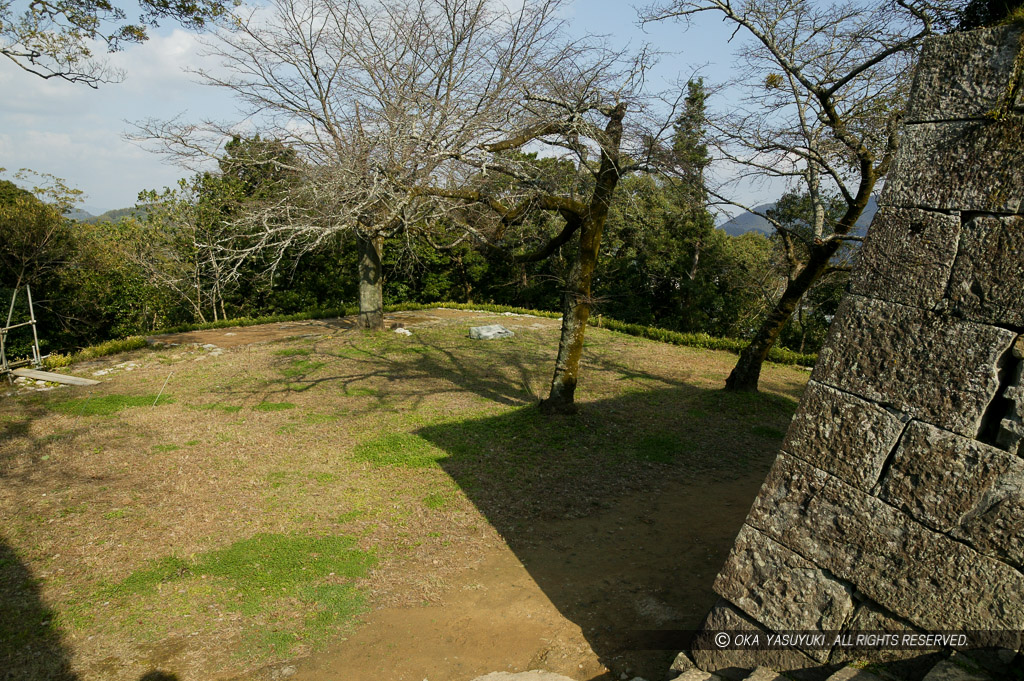
<path id="1" fill-rule="evenodd" d="M 524 307 L 510 307 L 508 305 L 492 305 L 487 303 L 452 303 L 452 302 L 441 302 L 441 303 L 398 303 L 395 305 L 385 305 L 384 311 L 386 312 L 397 312 L 397 311 L 412 311 L 412 310 L 422 310 L 422 309 L 435 309 L 438 307 L 447 309 L 461 309 L 461 310 L 480 310 L 483 312 L 512 312 L 515 314 L 531 314 L 534 316 L 544 316 L 549 318 L 558 318 L 561 316 L 561 312 L 553 312 L 551 310 L 536 310 L 526 309 Z M 258 317 L 239 317 L 234 320 L 220 320 L 218 322 L 207 322 L 205 324 L 193 324 L 179 327 L 172 327 L 169 329 L 163 329 L 160 334 L 174 334 L 183 333 L 186 331 L 203 331 L 206 329 L 224 329 L 226 327 L 252 327 L 260 324 L 274 324 L 278 322 L 301 322 L 305 320 L 323 320 L 338 316 L 348 316 L 351 314 L 357 314 L 359 311 L 358 305 L 351 304 L 345 305 L 343 307 L 323 307 L 307 310 L 305 312 L 298 312 L 296 314 L 273 314 L 269 316 L 258 316 Z M 657 327 L 645 327 L 640 324 L 627 324 L 625 322 L 620 322 L 618 320 L 612 320 L 606 316 L 598 315 L 592 316 L 590 318 L 590 326 L 600 327 L 602 329 L 608 329 L 610 331 L 616 331 L 618 333 L 627 334 L 629 336 L 637 336 L 639 338 L 648 338 L 650 340 L 658 341 L 662 343 L 671 343 L 673 345 L 684 345 L 686 347 L 696 347 L 706 350 L 725 350 L 727 352 L 733 352 L 738 354 L 740 350 L 746 347 L 746 341 L 738 340 L 736 338 L 718 338 L 715 336 L 709 336 L 708 334 L 701 333 L 682 333 L 679 331 L 669 331 L 668 329 L 659 329 Z M 50 368 L 55 367 L 67 367 L 68 365 L 75 364 L 77 361 L 84 361 L 86 359 L 92 359 L 94 357 L 100 357 L 108 354 L 116 354 L 118 352 L 126 352 L 128 350 L 134 350 L 145 346 L 145 339 L 141 336 L 132 336 L 130 338 L 125 338 L 121 340 L 106 341 L 105 343 L 100 343 L 99 345 L 93 345 L 92 347 L 87 347 L 74 354 L 66 355 L 51 355 L 46 359 L 46 366 Z M 795 352 L 783 347 L 773 347 L 768 352 L 768 360 L 779 365 L 800 365 L 802 367 L 813 367 L 814 363 L 817 360 L 817 354 L 806 354 Z"/>

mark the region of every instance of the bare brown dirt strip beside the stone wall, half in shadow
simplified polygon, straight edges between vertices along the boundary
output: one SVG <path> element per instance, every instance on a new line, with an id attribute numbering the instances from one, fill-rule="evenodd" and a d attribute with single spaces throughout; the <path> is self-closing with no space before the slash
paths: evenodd
<path id="1" fill-rule="evenodd" d="M 327 650 L 250 678 L 465 681 L 544 669 L 659 681 L 676 651 L 633 646 L 648 630 L 699 625 L 762 479 L 675 480 L 507 537 L 450 576 L 438 602 L 373 611 Z"/>

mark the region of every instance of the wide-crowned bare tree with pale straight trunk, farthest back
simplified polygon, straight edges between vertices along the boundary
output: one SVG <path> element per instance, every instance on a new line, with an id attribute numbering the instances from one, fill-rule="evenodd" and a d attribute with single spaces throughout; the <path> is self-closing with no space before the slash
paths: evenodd
<path id="1" fill-rule="evenodd" d="M 557 59 L 559 1 L 513 10 L 498 0 L 273 0 L 236 17 L 210 46 L 222 68 L 202 75 L 306 170 L 295 193 L 240 220 L 251 240 L 224 256 L 310 249 L 349 231 L 360 325 L 382 328 L 384 239 L 424 219 L 416 187 L 497 134 L 522 88 Z M 151 122 L 141 136 L 187 159 L 210 154 L 203 133 L 228 131 Z"/>

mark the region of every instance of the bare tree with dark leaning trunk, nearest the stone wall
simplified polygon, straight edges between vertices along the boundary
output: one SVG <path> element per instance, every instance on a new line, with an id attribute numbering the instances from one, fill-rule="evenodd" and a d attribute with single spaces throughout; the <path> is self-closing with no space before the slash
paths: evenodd
<path id="1" fill-rule="evenodd" d="M 833 267 L 899 143 L 909 74 L 922 41 L 947 20 L 954 3 L 927 0 L 817 3 L 810 0 L 663 0 L 645 20 L 688 23 L 721 15 L 751 40 L 740 52 L 737 83 L 746 93 L 738 111 L 712 119 L 721 160 L 743 170 L 732 184 L 781 177 L 811 200 L 807 236 L 774 220 L 787 253 L 795 241 L 806 258 L 742 351 L 726 381 L 732 390 L 757 390 L 761 366 L 804 294 Z M 730 187 L 711 194 L 741 206 Z M 839 193 L 842 217 L 825 220 L 827 197 Z M 771 216 L 764 216 L 771 218 Z M 805 238 L 806 237 L 806 238 Z"/>

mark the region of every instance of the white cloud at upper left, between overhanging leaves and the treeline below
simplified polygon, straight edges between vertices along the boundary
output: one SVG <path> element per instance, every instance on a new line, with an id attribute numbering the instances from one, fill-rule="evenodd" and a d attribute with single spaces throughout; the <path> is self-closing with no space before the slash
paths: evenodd
<path id="1" fill-rule="evenodd" d="M 0 65 L 0 166 L 62 177 L 100 210 L 130 206 L 140 189 L 171 185 L 187 174 L 125 134 L 132 129 L 129 121 L 233 115 L 229 98 L 184 71 L 203 63 L 199 39 L 174 30 L 110 59 L 125 72 L 125 81 L 98 89 Z"/>

